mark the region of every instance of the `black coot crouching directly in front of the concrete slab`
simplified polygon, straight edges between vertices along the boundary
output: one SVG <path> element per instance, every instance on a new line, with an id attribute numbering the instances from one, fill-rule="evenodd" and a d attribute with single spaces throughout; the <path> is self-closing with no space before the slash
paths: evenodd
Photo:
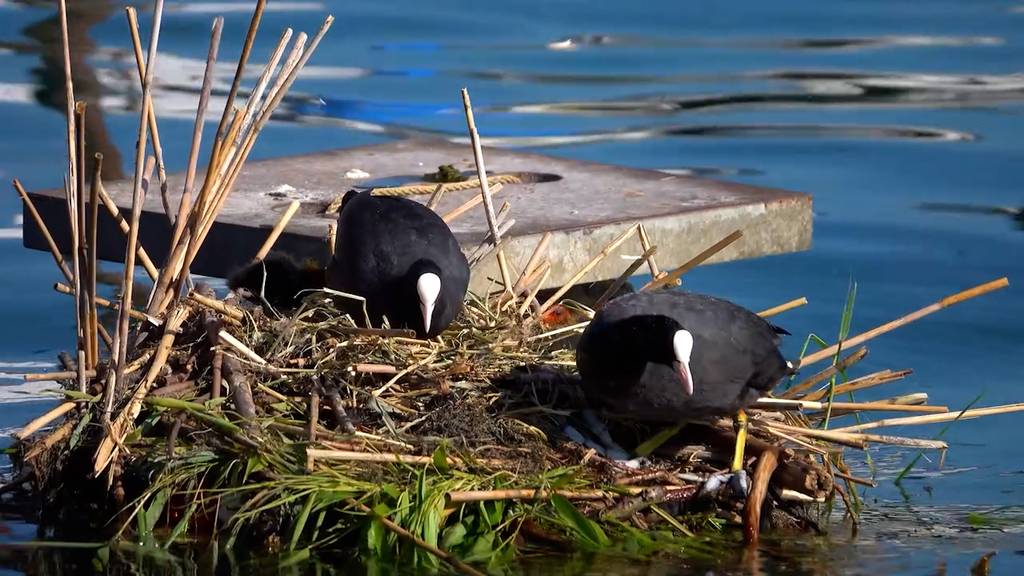
<path id="1" fill-rule="evenodd" d="M 351 191 L 338 215 L 327 285 L 367 299 L 374 325 L 431 337 L 462 311 L 469 262 L 444 220 L 406 198 Z M 361 318 L 361 310 L 353 318 Z"/>

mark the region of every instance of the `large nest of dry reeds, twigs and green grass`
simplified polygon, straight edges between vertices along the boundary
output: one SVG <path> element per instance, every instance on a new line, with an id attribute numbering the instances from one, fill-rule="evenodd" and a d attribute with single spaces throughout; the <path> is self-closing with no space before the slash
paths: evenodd
<path id="1" fill-rule="evenodd" d="M 190 262 L 260 129 L 331 23 L 329 17 L 308 45 L 299 34 L 279 70 L 292 37 L 286 30 L 248 100 L 236 106 L 264 5 L 257 3 L 202 181 L 195 177 L 203 125 L 197 121 L 182 200 L 176 211 L 165 202 L 174 227 L 172 249 L 161 266 L 139 245 L 138 222 L 155 167 L 166 196 L 150 99 L 162 2 L 156 2 L 147 58 L 134 11 L 128 10 L 143 106 L 127 217 L 103 191 L 101 161 L 95 163 L 86 201 L 79 129 L 85 109 L 74 106 L 69 81 L 67 192 L 75 249 L 66 258 L 52 240 L 50 246 L 67 280 L 57 288 L 75 297 L 78 345 L 74 356 L 61 356 L 62 371 L 28 376 L 63 382 L 65 398 L 17 434 L 16 476 L 3 487 L 36 503 L 35 520 L 44 534 L 90 540 L 100 534 L 114 543 L 142 546 L 215 541 L 283 552 L 359 550 L 413 567 L 445 565 L 474 574 L 537 550 L 713 554 L 721 539 L 738 533 L 724 531 L 727 526 L 742 527 L 743 539 L 756 541 L 764 527 L 821 530 L 834 502 L 856 518 L 858 486 L 872 481 L 851 472 L 846 449 L 871 444 L 946 449 L 941 440 L 869 430 L 1024 408 L 951 411 L 928 404 L 924 394 L 870 402 L 853 397 L 909 373 L 884 370 L 854 377 L 867 353 L 863 342 L 1006 286 L 1000 279 L 853 336 L 848 333 L 851 294 L 839 341 L 828 345 L 809 338 L 819 349 L 805 346 L 800 374 L 779 386 L 777 398 L 754 406 L 744 426 L 730 419 L 668 429 L 610 422 L 615 440 L 645 457 L 632 466 L 578 443 L 563 431 L 586 407 L 573 343 L 594 311 L 625 289 L 641 268 L 652 280 L 640 289 L 675 287 L 683 274 L 741 233 L 662 271 L 656 247 L 637 223 L 562 288 L 542 291 L 551 271 L 550 236 L 514 274 L 516 263 L 507 261 L 501 248 L 511 209 L 494 208 L 490 194 L 503 180 L 486 175 L 465 90 L 479 174 L 470 183 L 480 196 L 445 216 L 458 217 L 477 205 L 485 210 L 490 236 L 471 261 L 496 257 L 501 278 L 495 279 L 493 293 L 471 294 L 461 317 L 439 337 L 422 340 L 386 325 L 367 327 L 364 319 L 342 312 L 350 310 L 342 305 L 350 303 L 345 300 L 357 297 L 327 289 L 285 311 L 258 294 L 218 296 L 194 286 Z M 66 17 L 62 1 L 60 9 Z M 200 119 L 221 26 L 220 18 L 214 22 Z M 66 61 L 70 79 L 71 60 Z M 447 179 L 431 184 L 428 205 L 436 205 Z M 48 237 L 16 181 L 15 188 Z M 119 219 L 128 239 L 115 302 L 96 293 L 100 205 Z M 268 255 L 296 209 L 293 205 L 284 213 L 257 250 L 257 260 Z M 642 254 L 596 295 L 580 298 L 587 302 L 573 301 L 575 285 L 630 241 Z M 333 246 L 330 234 L 328 246 Z M 142 310 L 132 306 L 136 262 L 154 281 Z M 804 303 L 799 298 L 760 314 L 770 317 Z M 97 310 L 103 306 L 117 312 L 113 331 L 98 321 Z M 827 364 L 814 372 L 816 363 Z M 867 419 L 893 412 L 916 414 Z M 709 478 L 735 465 L 737 443 L 745 446 L 738 465 L 753 479 L 749 494 L 707 490 Z"/>

